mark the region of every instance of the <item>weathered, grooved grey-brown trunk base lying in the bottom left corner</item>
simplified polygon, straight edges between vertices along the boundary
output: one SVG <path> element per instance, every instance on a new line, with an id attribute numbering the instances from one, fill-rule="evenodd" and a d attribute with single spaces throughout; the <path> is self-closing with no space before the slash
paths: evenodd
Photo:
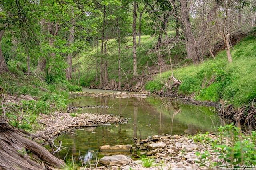
<path id="1" fill-rule="evenodd" d="M 0 127 L 0 169 L 44 170 L 66 166 L 42 145 L 24 137 L 3 119 L 0 119 Z"/>

